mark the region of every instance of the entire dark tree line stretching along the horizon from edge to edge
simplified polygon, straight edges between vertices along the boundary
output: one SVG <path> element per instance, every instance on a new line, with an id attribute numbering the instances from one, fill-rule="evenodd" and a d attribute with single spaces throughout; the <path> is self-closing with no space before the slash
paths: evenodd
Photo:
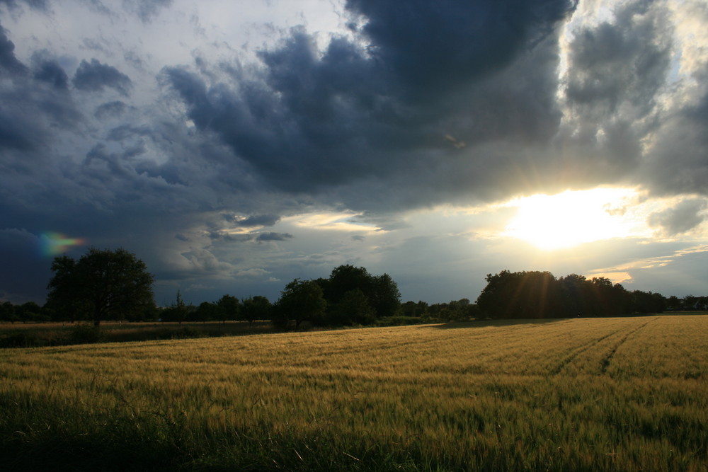
<path id="1" fill-rule="evenodd" d="M 186 304 L 178 290 L 170 306 L 154 302 L 154 277 L 135 254 L 91 248 L 74 260 L 59 256 L 52 262 L 50 292 L 44 306 L 33 301 L 0 304 L 0 321 L 272 321 L 280 328 L 302 326 L 365 326 L 474 318 L 569 318 L 627 316 L 668 310 L 708 309 L 708 297 L 683 299 L 652 292 L 629 292 L 605 277 L 583 275 L 556 278 L 550 272 L 503 270 L 486 276 L 476 303 L 463 298 L 449 303 L 406 301 L 387 274 L 372 275 L 364 267 L 340 265 L 329 277 L 295 279 L 275 303 L 255 296 L 239 299 L 226 294 L 198 306 Z"/>

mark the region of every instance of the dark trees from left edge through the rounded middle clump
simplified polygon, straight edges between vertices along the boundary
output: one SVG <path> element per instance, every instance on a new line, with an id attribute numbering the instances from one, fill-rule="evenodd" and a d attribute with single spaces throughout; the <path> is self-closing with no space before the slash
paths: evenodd
<path id="1" fill-rule="evenodd" d="M 271 304 L 263 296 L 239 299 L 226 294 L 199 306 L 186 304 L 178 290 L 170 306 L 154 301 L 154 277 L 135 254 L 119 248 L 91 248 L 78 260 L 66 255 L 52 262 L 45 306 L 34 302 L 0 306 L 1 321 L 272 321 L 280 328 L 350 326 L 375 323 L 399 311 L 401 294 L 387 274 L 341 265 L 328 278 L 295 279 Z"/>

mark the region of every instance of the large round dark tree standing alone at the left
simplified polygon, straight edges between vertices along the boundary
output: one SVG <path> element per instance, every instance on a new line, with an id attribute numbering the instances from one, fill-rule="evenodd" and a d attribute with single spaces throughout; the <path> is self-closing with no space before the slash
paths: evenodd
<path id="1" fill-rule="evenodd" d="M 47 304 L 63 311 L 85 310 L 98 327 L 108 318 L 154 306 L 153 276 L 135 254 L 91 248 L 79 260 L 66 255 L 52 263 Z"/>

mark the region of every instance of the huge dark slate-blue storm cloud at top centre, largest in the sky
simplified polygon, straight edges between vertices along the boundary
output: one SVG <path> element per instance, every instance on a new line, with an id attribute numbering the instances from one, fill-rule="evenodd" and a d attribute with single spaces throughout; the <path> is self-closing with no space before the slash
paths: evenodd
<path id="1" fill-rule="evenodd" d="M 549 33 L 573 7 L 350 1 L 350 12 L 365 20 L 359 39 L 367 45 L 333 38 L 320 52 L 295 28 L 280 47 L 259 53 L 262 74 L 213 83 L 168 67 L 163 79 L 198 129 L 216 134 L 276 188 L 336 188 L 333 197 L 351 207 L 371 198 L 376 206 L 426 205 L 474 184 L 484 191 L 481 170 L 505 171 L 493 168 L 509 156 L 486 154 L 480 144 L 554 134 L 558 51 Z M 450 146 L 447 135 L 468 146 Z M 401 196 L 382 198 L 362 185 Z"/>

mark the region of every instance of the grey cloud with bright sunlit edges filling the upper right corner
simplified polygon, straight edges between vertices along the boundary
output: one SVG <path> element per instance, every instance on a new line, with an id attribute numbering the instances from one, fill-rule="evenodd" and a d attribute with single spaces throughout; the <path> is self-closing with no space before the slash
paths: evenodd
<path id="1" fill-rule="evenodd" d="M 576 33 L 566 87 L 576 120 L 565 143 L 581 156 L 594 151 L 587 163 L 653 194 L 707 195 L 706 64 L 683 92 L 694 100 L 666 102 L 667 93 L 681 95 L 668 81 L 677 67 L 669 15 L 663 2 L 631 1 L 612 23 Z"/>

